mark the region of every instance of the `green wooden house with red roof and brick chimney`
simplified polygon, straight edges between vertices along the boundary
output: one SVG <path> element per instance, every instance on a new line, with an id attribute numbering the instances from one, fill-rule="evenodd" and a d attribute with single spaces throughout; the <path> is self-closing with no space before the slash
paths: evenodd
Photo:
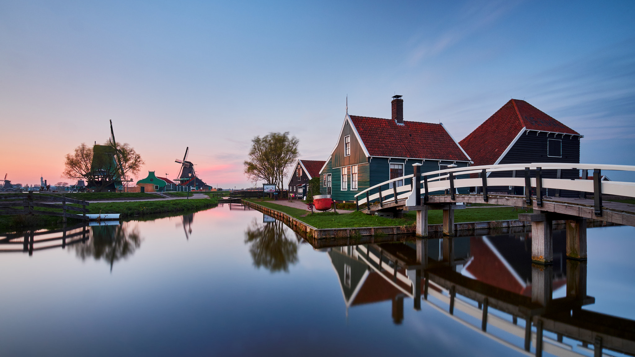
<path id="1" fill-rule="evenodd" d="M 392 119 L 345 115 L 337 145 L 320 170 L 323 194 L 354 202 L 359 191 L 411 175 L 414 163 L 422 165 L 422 172 L 469 164 L 469 156 L 442 124 L 404 121 L 400 97 L 393 97 Z M 406 179 L 397 185 L 409 184 Z"/>

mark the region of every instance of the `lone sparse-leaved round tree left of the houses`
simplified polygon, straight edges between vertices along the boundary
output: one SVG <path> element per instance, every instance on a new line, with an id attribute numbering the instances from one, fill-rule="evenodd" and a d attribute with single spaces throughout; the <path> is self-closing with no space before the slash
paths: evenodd
<path id="1" fill-rule="evenodd" d="M 244 173 L 251 182 L 262 180 L 282 189 L 287 168 L 298 158 L 299 140 L 289 137 L 286 131 L 269 133 L 262 138 L 256 136 L 251 142 L 250 160 L 244 161 Z"/>

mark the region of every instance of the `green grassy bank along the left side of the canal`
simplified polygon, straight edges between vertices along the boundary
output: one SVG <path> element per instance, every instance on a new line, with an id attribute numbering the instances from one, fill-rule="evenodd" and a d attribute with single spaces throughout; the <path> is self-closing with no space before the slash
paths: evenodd
<path id="1" fill-rule="evenodd" d="M 218 204 L 217 198 L 210 199 L 172 199 L 169 201 L 140 201 L 140 202 L 104 202 L 91 203 L 88 206 L 88 213 L 120 213 L 121 218 L 130 218 L 140 215 L 173 212 L 192 212 L 210 208 Z M 79 206 L 79 205 L 71 205 Z M 49 208 L 38 208 L 38 210 L 53 210 Z M 59 210 L 54 210 L 59 212 Z M 75 212 L 72 212 L 75 213 Z M 77 219 L 68 219 L 67 224 L 81 222 Z M 62 217 L 51 216 L 0 216 L 0 231 L 9 231 L 24 228 L 49 229 L 56 228 L 62 224 Z"/>

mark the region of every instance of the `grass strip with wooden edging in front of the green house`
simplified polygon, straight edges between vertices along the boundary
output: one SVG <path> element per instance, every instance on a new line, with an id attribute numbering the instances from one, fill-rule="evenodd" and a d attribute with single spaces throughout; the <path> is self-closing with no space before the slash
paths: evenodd
<path id="1" fill-rule="evenodd" d="M 272 201 L 260 201 L 259 199 L 250 199 L 258 205 L 273 208 L 280 212 L 284 212 L 291 217 L 301 220 L 316 228 L 348 228 L 348 227 L 385 227 L 385 226 L 410 226 L 417 220 L 415 212 L 404 214 L 401 219 L 391 219 L 387 217 L 377 217 L 366 215 L 361 212 L 342 213 L 321 212 L 307 215 L 307 211 L 298 208 L 276 205 Z M 515 220 L 518 219 L 518 213 L 531 213 L 531 210 L 512 211 L 512 207 L 500 208 L 467 208 L 464 210 L 456 210 L 454 213 L 454 222 L 489 222 L 491 220 Z M 302 217 L 304 216 L 304 217 Z M 434 210 L 428 212 L 428 224 L 443 223 L 443 211 Z"/>

